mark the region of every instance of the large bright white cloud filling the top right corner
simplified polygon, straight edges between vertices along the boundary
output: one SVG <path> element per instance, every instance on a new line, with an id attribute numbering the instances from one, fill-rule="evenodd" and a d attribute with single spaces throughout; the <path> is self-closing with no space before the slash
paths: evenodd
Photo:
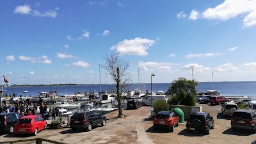
<path id="1" fill-rule="evenodd" d="M 225 0 L 215 8 L 207 8 L 202 13 L 202 18 L 207 20 L 226 21 L 238 15 L 245 15 L 244 27 L 256 24 L 256 1 L 255 0 Z"/>

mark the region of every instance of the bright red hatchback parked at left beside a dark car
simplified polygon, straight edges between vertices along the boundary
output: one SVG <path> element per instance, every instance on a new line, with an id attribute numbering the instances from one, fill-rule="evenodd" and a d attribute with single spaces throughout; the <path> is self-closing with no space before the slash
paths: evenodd
<path id="1" fill-rule="evenodd" d="M 21 117 L 15 124 L 13 134 L 33 134 L 46 129 L 47 122 L 38 115 L 28 115 Z"/>

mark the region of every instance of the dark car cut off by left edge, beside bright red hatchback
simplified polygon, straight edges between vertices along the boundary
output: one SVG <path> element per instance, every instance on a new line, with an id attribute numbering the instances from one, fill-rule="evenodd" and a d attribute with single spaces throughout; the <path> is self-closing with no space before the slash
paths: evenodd
<path id="1" fill-rule="evenodd" d="M 13 133 L 15 123 L 20 117 L 20 113 L 0 113 L 0 132 Z"/>

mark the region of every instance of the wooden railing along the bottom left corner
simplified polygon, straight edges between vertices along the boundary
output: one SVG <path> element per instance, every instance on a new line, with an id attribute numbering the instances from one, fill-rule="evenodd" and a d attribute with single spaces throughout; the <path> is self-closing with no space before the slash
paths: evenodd
<path id="1" fill-rule="evenodd" d="M 36 144 L 42 144 L 43 141 L 47 141 L 49 143 L 56 143 L 56 144 L 68 144 L 68 143 L 64 143 L 64 142 L 61 142 L 61 141 L 47 140 L 47 139 L 44 139 L 44 138 L 31 138 L 31 139 L 26 139 L 26 140 L 13 140 L 13 141 L 0 141 L 0 144 L 2 144 L 2 143 L 13 144 L 13 143 L 21 143 L 21 142 L 25 142 L 25 141 L 36 141 Z"/>

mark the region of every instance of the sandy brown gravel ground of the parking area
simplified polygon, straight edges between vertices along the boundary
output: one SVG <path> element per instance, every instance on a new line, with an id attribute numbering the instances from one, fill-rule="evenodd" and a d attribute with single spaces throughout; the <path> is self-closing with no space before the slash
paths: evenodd
<path id="1" fill-rule="evenodd" d="M 211 134 L 188 133 L 186 122 L 175 127 L 173 133 L 168 131 L 154 131 L 150 117 L 150 106 L 143 106 L 138 110 L 124 110 L 122 119 L 116 119 L 118 112 L 108 113 L 106 126 L 93 127 L 92 131 L 85 132 L 70 128 L 46 129 L 37 136 L 14 137 L 13 134 L 0 136 L 0 141 L 20 140 L 27 138 L 47 138 L 65 143 L 252 143 L 256 134 L 246 130 L 233 132 L 230 128 L 230 118 L 223 118 L 221 106 L 200 104 L 204 112 L 209 112 L 215 120 L 215 128 Z"/>

